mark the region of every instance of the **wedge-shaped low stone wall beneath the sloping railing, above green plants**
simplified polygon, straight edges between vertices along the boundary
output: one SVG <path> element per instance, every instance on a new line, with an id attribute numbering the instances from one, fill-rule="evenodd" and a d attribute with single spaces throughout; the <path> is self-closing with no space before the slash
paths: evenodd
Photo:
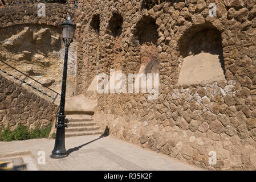
<path id="1" fill-rule="evenodd" d="M 34 129 L 55 122 L 58 106 L 0 74 L 0 128 L 19 123 Z"/>

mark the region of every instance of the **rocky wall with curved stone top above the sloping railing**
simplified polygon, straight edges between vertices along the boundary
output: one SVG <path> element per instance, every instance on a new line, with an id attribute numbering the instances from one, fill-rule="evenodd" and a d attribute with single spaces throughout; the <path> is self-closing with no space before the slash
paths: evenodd
<path id="1" fill-rule="evenodd" d="M 45 15 L 39 16 L 39 3 L 20 3 L 1 8 L 0 59 L 38 80 L 56 92 L 61 92 L 64 44 L 60 23 L 74 9 L 60 3 L 46 3 Z M 1 63 L 1 68 L 23 79 L 23 75 Z M 74 96 L 76 78 L 76 41 L 70 46 L 67 77 L 67 97 Z M 26 80 L 34 86 L 36 82 Z M 44 92 L 55 97 L 55 93 Z"/>

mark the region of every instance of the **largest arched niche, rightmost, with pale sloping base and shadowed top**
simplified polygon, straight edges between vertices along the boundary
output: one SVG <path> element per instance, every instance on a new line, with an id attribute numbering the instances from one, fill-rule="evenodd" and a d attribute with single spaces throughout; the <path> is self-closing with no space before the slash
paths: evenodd
<path id="1" fill-rule="evenodd" d="M 225 80 L 222 39 L 216 28 L 188 30 L 178 44 L 184 58 L 178 84 Z"/>

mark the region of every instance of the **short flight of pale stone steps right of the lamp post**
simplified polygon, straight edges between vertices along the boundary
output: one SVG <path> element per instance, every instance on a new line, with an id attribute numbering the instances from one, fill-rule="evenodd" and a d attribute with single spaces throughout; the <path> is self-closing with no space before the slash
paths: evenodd
<path id="1" fill-rule="evenodd" d="M 75 137 L 82 135 L 97 135 L 103 134 L 97 123 L 94 121 L 92 115 L 86 114 L 72 114 L 66 115 L 65 121 L 67 122 L 67 128 L 65 131 L 65 137 Z"/>

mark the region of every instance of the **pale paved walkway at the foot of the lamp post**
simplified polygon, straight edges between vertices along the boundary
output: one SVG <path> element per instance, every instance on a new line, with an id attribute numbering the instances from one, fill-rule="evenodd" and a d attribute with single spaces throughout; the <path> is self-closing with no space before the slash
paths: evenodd
<path id="1" fill-rule="evenodd" d="M 66 138 L 70 155 L 51 159 L 54 142 L 54 139 L 0 142 L 0 159 L 23 156 L 27 170 L 200 170 L 132 143 L 99 135 Z M 40 164 L 43 152 L 38 151 L 45 152 L 45 164 Z"/>

